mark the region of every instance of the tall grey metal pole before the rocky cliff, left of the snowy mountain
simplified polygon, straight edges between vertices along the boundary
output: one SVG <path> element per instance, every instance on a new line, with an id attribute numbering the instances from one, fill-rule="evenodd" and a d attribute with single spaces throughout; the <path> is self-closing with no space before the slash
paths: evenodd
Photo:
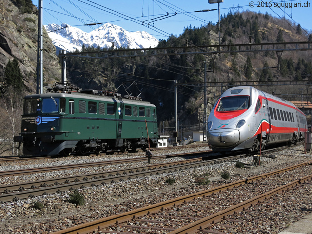
<path id="1" fill-rule="evenodd" d="M 43 37 L 42 37 L 42 6 L 43 0 L 38 0 L 38 39 L 37 39 L 37 87 L 36 94 L 39 94 L 39 80 L 40 93 L 43 93 Z"/>

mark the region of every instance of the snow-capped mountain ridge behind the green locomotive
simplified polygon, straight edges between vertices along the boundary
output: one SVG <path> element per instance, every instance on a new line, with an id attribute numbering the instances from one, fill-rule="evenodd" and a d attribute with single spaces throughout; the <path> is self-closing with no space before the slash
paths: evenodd
<path id="1" fill-rule="evenodd" d="M 101 27 L 86 33 L 79 28 L 71 27 L 68 24 L 44 25 L 52 43 L 57 50 L 73 52 L 76 49 L 81 51 L 85 47 L 114 48 L 129 47 L 130 49 L 154 48 L 158 40 L 147 32 L 128 32 L 123 28 L 105 23 Z"/>

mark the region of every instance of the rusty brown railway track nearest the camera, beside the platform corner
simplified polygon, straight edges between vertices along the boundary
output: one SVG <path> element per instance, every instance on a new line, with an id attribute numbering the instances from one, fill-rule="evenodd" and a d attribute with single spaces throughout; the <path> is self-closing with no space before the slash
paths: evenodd
<path id="1" fill-rule="evenodd" d="M 307 172 L 309 172 L 309 175 L 305 175 Z M 219 225 L 228 229 L 228 232 L 233 231 L 235 222 L 243 223 L 243 216 L 250 216 L 247 213 L 249 210 L 254 210 L 254 206 L 261 206 L 261 202 L 269 199 L 273 194 L 285 193 L 287 190 L 295 189 L 295 186 L 303 183 L 311 185 L 311 172 L 311 161 L 301 163 L 271 173 L 246 178 L 195 194 L 70 227 L 54 232 L 54 234 L 147 232 L 223 234 L 227 231 L 216 232 L 214 227 Z M 293 179 L 291 182 L 284 184 L 285 182 L 281 181 L 285 177 L 300 177 L 300 179 Z M 266 203 L 273 203 L 274 200 L 276 199 L 267 200 Z M 230 215 L 235 215 L 242 210 L 245 213 L 240 220 L 231 218 Z M 240 217 L 239 215 L 236 216 Z"/>

